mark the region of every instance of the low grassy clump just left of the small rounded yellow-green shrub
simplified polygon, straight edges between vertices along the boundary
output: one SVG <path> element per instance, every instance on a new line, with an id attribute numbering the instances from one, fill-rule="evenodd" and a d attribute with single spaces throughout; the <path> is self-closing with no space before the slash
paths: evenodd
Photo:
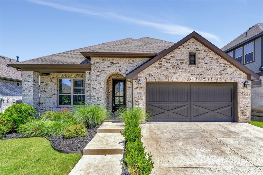
<path id="1" fill-rule="evenodd" d="M 67 129 L 67 127 L 69 127 L 70 125 L 71 123 L 68 123 L 64 120 L 46 120 L 44 122 L 41 135 L 42 137 L 62 135 L 63 132 Z"/>

